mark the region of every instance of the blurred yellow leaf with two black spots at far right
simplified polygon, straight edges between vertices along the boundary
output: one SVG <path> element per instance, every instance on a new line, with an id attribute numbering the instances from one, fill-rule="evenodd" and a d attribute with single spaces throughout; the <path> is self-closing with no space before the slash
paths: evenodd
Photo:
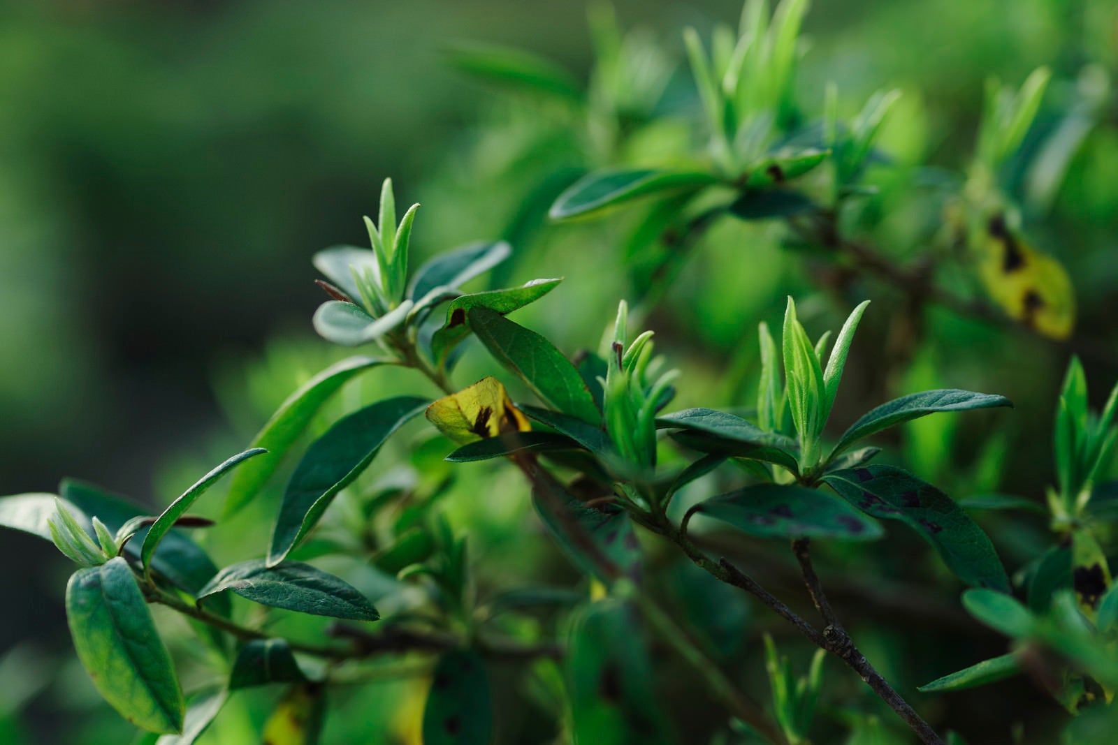
<path id="1" fill-rule="evenodd" d="M 984 231 L 979 274 L 1005 313 L 1039 334 L 1068 338 L 1076 325 L 1076 290 L 1068 271 L 1014 235 L 1001 216 Z"/>

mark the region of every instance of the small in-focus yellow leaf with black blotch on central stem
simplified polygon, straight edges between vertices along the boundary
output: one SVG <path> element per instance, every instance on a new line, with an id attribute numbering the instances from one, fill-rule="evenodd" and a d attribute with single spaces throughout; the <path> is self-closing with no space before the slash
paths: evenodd
<path id="1" fill-rule="evenodd" d="M 492 376 L 430 404 L 427 419 L 458 445 L 505 432 L 527 432 L 532 428 L 520 409 L 512 404 L 501 381 Z"/>

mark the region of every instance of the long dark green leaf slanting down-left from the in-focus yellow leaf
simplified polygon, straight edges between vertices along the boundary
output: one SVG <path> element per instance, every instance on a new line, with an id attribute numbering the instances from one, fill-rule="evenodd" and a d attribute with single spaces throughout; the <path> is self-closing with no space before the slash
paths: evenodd
<path id="1" fill-rule="evenodd" d="M 368 468 L 392 432 L 428 403 L 410 395 L 373 403 L 339 420 L 307 448 L 284 491 L 268 565 L 275 566 L 287 556 L 318 524 L 334 496 Z"/>

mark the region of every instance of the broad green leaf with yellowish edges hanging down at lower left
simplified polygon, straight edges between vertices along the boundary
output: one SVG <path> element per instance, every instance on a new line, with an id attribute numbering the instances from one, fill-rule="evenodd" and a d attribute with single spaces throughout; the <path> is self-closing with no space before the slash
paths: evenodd
<path id="1" fill-rule="evenodd" d="M 186 701 L 171 656 L 126 561 L 75 572 L 66 618 L 78 659 L 113 708 L 150 732 L 182 730 Z"/>

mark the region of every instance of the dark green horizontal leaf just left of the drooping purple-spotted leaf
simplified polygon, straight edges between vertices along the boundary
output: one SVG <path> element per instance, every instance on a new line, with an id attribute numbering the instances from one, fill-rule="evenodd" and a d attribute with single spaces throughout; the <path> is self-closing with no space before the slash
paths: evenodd
<path id="1" fill-rule="evenodd" d="M 712 497 L 692 508 L 761 536 L 872 541 L 882 535 L 877 520 L 816 489 L 756 484 Z"/>

